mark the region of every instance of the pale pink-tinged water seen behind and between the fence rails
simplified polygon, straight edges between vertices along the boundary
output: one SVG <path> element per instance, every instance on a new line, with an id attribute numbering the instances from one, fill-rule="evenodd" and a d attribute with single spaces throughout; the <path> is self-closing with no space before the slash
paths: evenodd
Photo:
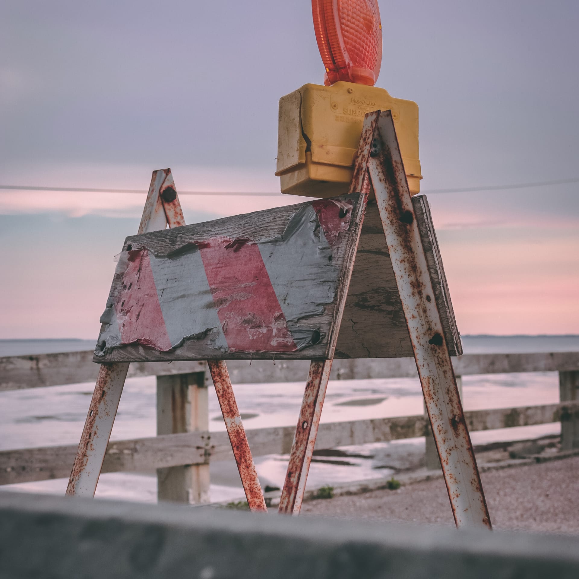
<path id="1" fill-rule="evenodd" d="M 579 351 L 579 336 L 464 336 L 466 353 Z M 89 340 L 0 340 L 0 356 L 89 350 Z M 301 405 L 303 380 L 285 384 L 243 384 L 236 387 L 237 402 L 246 428 L 295 424 Z M 0 449 L 76 444 L 79 440 L 94 384 L 69 384 L 52 388 L 0 393 Z M 551 404 L 559 398 L 556 372 L 465 376 L 463 402 L 467 410 Z M 155 378 L 127 380 L 112 439 L 155 435 Z M 210 428 L 225 430 L 214 391 L 210 389 Z M 420 414 L 422 393 L 417 379 L 338 380 L 328 386 L 322 422 Z M 559 432 L 558 424 L 510 428 L 472 435 L 475 444 L 515 438 L 532 438 Z M 390 477 L 393 462 L 422 452 L 424 439 L 350 447 L 355 457 L 314 462 L 308 485 L 312 487 L 364 478 Z M 258 457 L 262 485 L 281 486 L 287 457 Z M 240 497 L 239 475 L 234 464 L 211 465 L 211 497 Z M 66 481 L 41 481 L 10 485 L 4 489 L 64 493 Z M 153 473 L 111 473 L 101 476 L 98 497 L 155 501 Z"/>

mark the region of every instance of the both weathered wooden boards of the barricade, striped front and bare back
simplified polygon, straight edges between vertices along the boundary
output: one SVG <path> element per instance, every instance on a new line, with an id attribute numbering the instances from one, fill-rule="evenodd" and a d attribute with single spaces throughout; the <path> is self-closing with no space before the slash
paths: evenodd
<path id="1" fill-rule="evenodd" d="M 413 205 L 457 356 L 426 197 Z M 97 362 L 413 356 L 378 208 L 364 216 L 360 193 L 127 237 L 101 322 Z"/>

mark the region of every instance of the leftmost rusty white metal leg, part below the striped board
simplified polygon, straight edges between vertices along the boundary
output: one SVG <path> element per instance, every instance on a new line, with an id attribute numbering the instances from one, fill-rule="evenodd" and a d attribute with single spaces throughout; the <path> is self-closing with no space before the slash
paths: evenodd
<path id="1" fill-rule="evenodd" d="M 68 495 L 94 496 L 128 370 L 128 362 L 101 364 L 68 480 Z"/>

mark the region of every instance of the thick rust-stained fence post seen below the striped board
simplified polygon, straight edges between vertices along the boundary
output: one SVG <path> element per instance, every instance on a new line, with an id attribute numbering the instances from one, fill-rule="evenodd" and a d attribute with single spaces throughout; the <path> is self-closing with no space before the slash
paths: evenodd
<path id="1" fill-rule="evenodd" d="M 209 430 L 204 372 L 157 376 L 157 435 Z M 157 468 L 159 501 L 209 502 L 209 465 Z"/>

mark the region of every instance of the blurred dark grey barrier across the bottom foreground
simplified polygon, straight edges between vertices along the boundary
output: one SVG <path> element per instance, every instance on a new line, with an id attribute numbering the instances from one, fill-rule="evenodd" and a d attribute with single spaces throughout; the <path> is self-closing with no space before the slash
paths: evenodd
<path id="1" fill-rule="evenodd" d="M 0 577 L 579 577 L 579 538 L 0 492 Z"/>

